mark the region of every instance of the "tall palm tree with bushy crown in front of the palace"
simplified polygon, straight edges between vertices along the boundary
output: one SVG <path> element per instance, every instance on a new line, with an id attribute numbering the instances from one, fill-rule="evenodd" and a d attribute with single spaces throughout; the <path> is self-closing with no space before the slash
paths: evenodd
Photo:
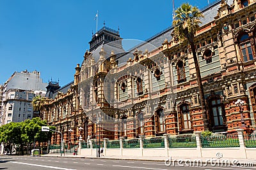
<path id="1" fill-rule="evenodd" d="M 194 43 L 196 31 L 199 29 L 199 24 L 201 23 L 201 17 L 204 17 L 204 15 L 200 12 L 200 10 L 198 10 L 198 8 L 191 6 L 188 3 L 182 4 L 177 10 L 175 10 L 175 17 L 173 19 L 174 30 L 172 35 L 174 39 L 182 41 L 183 43 L 188 43 L 193 53 L 199 95 L 202 105 L 202 115 L 204 119 L 204 131 L 208 131 L 209 122 L 205 108 L 204 87 L 202 85 L 200 68 L 198 66 L 198 59 L 196 56 L 196 48 Z"/>

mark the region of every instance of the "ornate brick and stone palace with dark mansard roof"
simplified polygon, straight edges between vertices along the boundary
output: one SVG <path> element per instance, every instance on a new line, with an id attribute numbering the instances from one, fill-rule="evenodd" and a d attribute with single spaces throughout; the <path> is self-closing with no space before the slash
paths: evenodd
<path id="1" fill-rule="evenodd" d="M 215 1 L 196 32 L 209 129 L 252 130 L 256 118 L 256 1 Z M 77 139 L 135 138 L 204 131 L 195 64 L 173 27 L 125 52 L 119 32 L 103 27 L 77 64 L 74 82 L 49 83 L 42 117 Z M 243 101 L 237 106 L 236 101 Z M 55 134 L 52 143 L 59 143 Z"/>

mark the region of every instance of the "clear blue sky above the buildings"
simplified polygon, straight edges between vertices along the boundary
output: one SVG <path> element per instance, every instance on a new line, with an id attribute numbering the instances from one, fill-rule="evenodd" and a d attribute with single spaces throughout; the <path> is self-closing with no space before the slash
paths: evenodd
<path id="1" fill-rule="evenodd" d="M 175 7 L 184 2 L 207 5 L 175 0 Z M 172 0 L 0 0 L 0 84 L 25 69 L 40 71 L 44 82 L 60 79 L 61 86 L 74 80 L 96 30 L 97 10 L 99 29 L 105 20 L 107 27 L 119 26 L 124 39 L 145 40 L 172 24 Z"/>

